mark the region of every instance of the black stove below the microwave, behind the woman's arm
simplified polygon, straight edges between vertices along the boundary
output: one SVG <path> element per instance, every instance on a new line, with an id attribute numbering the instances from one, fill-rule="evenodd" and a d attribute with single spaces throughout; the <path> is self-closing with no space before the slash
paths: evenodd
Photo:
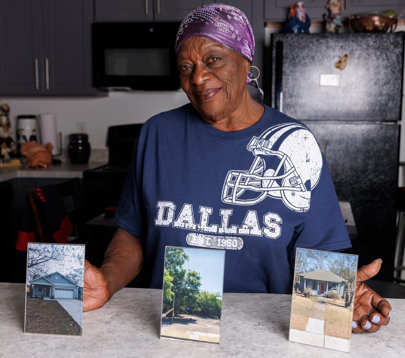
<path id="1" fill-rule="evenodd" d="M 86 214 L 100 215 L 107 206 L 117 206 L 142 124 L 108 128 L 108 164 L 83 172 Z"/>

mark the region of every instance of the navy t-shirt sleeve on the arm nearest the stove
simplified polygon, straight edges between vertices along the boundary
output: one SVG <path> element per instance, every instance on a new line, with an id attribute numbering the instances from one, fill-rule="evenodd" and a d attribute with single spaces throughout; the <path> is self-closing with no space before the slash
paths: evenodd
<path id="1" fill-rule="evenodd" d="M 114 215 L 116 224 L 138 239 L 144 239 L 147 231 L 142 200 L 143 138 L 141 130 L 135 142 L 131 164 Z"/>

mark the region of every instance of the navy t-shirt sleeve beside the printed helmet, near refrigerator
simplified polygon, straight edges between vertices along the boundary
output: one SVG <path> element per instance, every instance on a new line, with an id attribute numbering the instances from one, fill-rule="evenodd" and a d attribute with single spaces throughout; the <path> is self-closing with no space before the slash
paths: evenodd
<path id="1" fill-rule="evenodd" d="M 311 191 L 310 209 L 288 245 L 288 260 L 295 258 L 297 247 L 324 251 L 351 247 L 332 178 L 323 161 L 320 180 Z"/>

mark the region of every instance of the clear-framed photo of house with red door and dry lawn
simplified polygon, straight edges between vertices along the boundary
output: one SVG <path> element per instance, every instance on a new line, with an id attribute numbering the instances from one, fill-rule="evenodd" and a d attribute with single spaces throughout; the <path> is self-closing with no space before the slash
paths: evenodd
<path id="1" fill-rule="evenodd" d="M 289 340 L 350 351 L 357 255 L 297 249 Z"/>

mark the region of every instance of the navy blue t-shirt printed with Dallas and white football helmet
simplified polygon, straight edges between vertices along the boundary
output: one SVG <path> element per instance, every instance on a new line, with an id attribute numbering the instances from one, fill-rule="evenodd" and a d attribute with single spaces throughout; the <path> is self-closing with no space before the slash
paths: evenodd
<path id="1" fill-rule="evenodd" d="M 297 247 L 350 247 L 316 139 L 267 106 L 233 132 L 191 104 L 147 120 L 115 221 L 142 239 L 151 288 L 162 288 L 166 245 L 226 250 L 224 292 L 256 293 L 291 292 Z"/>

